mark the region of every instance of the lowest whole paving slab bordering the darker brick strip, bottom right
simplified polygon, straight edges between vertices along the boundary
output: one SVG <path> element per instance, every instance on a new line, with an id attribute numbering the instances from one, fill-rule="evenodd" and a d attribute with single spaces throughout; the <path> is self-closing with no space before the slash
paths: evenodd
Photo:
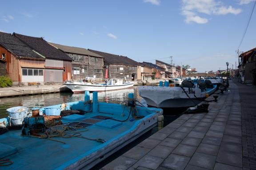
<path id="1" fill-rule="evenodd" d="M 216 162 L 242 167 L 242 154 L 234 152 L 219 151 Z"/>

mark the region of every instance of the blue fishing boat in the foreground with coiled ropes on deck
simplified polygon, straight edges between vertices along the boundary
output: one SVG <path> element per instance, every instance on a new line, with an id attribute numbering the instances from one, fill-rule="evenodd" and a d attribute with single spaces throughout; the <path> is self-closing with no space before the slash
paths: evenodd
<path id="1" fill-rule="evenodd" d="M 22 130 L 0 135 L 0 159 L 9 164 L 1 169 L 90 169 L 155 127 L 162 113 L 138 106 L 133 93 L 128 101 L 111 104 L 98 102 L 97 92 L 90 100 L 87 91 L 84 101 L 44 107 L 39 116 L 32 111 Z M 9 122 L 0 119 L 0 126 Z"/>

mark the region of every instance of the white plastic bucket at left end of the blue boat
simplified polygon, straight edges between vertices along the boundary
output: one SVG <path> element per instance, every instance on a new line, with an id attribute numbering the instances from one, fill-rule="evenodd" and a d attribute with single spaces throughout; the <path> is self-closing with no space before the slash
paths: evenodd
<path id="1" fill-rule="evenodd" d="M 8 108 L 6 111 L 13 125 L 22 124 L 24 118 L 28 116 L 28 108 L 23 106 Z"/>

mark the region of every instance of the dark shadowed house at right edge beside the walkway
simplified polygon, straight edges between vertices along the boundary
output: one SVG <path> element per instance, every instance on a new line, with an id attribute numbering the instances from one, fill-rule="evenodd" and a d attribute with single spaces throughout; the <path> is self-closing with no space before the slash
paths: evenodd
<path id="1" fill-rule="evenodd" d="M 240 54 L 239 59 L 240 81 L 256 85 L 256 48 Z"/>

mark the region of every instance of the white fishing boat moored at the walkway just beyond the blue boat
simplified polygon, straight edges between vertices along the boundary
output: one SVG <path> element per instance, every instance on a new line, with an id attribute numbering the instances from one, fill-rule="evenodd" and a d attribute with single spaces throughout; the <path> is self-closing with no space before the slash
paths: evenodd
<path id="1" fill-rule="evenodd" d="M 200 89 L 188 87 L 160 87 L 139 86 L 139 95 L 146 100 L 148 106 L 156 108 L 184 108 L 199 104 L 207 96 L 216 91 L 217 85 L 212 88 Z"/>

